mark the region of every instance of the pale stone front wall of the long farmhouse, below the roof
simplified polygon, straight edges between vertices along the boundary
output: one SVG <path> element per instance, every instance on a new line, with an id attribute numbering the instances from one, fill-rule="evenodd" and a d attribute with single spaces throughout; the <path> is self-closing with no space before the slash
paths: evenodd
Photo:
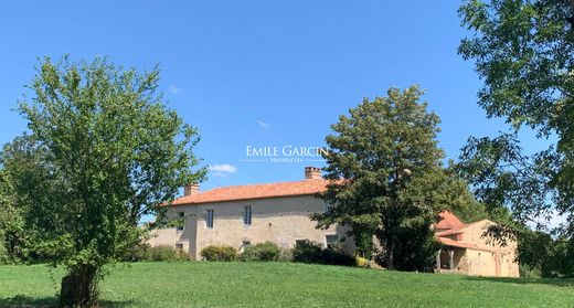
<path id="1" fill-rule="evenodd" d="M 244 225 L 244 206 L 252 209 L 252 223 Z M 208 227 L 208 210 L 213 210 L 213 227 Z M 182 231 L 174 227 L 155 231 L 149 243 L 153 246 L 181 244 L 193 259 L 209 245 L 228 245 L 241 249 L 246 243 L 274 242 L 281 248 L 293 248 L 296 241 L 309 240 L 327 245 L 328 235 L 337 235 L 346 251 L 354 251 L 353 240 L 347 229 L 333 225 L 327 230 L 316 229 L 309 214 L 326 210 L 322 200 L 313 195 L 294 195 L 245 201 L 212 202 L 170 206 L 168 220 L 181 217 L 185 222 Z"/>

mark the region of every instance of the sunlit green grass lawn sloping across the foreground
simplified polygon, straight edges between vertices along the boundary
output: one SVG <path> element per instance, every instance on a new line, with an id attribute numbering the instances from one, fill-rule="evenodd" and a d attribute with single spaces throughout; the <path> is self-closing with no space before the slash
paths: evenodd
<path id="1" fill-rule="evenodd" d="M 103 307 L 574 307 L 568 279 L 291 263 L 136 263 L 109 273 Z M 0 307 L 52 307 L 62 275 L 41 265 L 0 266 Z"/>

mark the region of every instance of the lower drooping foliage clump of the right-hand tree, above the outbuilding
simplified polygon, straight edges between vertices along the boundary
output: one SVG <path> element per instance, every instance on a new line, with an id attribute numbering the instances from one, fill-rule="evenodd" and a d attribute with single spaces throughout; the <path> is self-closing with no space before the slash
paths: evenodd
<path id="1" fill-rule="evenodd" d="M 534 221 L 553 204 L 549 182 L 554 159 L 548 152 L 522 153 L 515 135 L 469 138 L 460 153 L 458 171 L 475 189 L 475 195 L 495 214 L 512 209 L 513 219 Z"/>

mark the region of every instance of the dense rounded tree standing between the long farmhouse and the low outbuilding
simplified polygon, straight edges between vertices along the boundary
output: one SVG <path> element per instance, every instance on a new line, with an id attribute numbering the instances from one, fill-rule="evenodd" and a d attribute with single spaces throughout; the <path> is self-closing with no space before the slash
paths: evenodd
<path id="1" fill-rule="evenodd" d="M 438 249 L 431 225 L 440 210 L 464 199 L 458 192 L 470 197 L 443 168 L 439 118 L 427 111 L 422 94 L 412 86 L 364 99 L 326 138 L 331 181 L 320 197 L 332 206 L 312 219 L 319 227 L 348 225 L 361 242 L 374 235 L 382 248 L 378 259 L 391 269 L 429 269 Z"/>

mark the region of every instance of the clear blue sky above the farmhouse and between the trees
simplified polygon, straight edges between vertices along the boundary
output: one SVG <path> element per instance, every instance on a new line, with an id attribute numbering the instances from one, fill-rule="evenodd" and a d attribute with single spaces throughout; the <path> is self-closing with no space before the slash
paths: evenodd
<path id="1" fill-rule="evenodd" d="M 50 3 L 49 3 L 50 2 Z M 288 181 L 319 162 L 244 161 L 246 146 L 323 146 L 363 97 L 419 84 L 456 158 L 470 136 L 504 129 L 476 104 L 481 83 L 456 53 L 459 1 L 3 1 L 0 144 L 25 130 L 13 111 L 38 56 L 126 67 L 159 64 L 172 108 L 200 130 L 202 183 Z M 529 147 L 535 148 L 538 144 Z"/>

